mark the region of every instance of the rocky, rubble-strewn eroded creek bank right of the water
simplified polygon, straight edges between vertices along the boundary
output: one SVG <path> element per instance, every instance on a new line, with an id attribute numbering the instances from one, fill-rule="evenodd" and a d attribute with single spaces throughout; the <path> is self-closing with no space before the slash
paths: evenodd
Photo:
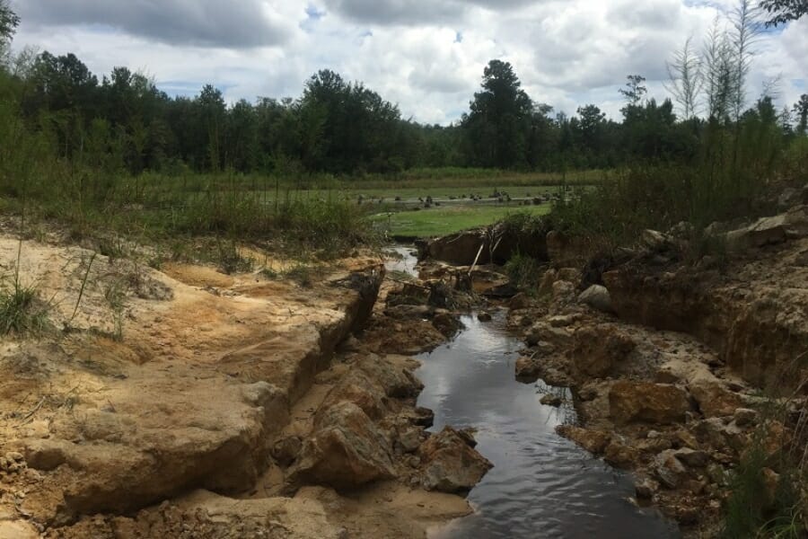
<path id="1" fill-rule="evenodd" d="M 558 432 L 635 473 L 638 502 L 685 535 L 714 536 L 742 457 L 805 443 L 795 439 L 804 392 L 772 402 L 761 389 L 790 394 L 788 382 L 808 373 L 798 361 L 808 349 L 808 211 L 713 226 L 725 261 L 688 261 L 686 229 L 648 231 L 608 260 L 548 234 L 537 292 L 510 300 L 508 323 L 527 345 L 515 375 L 572 389 L 580 424 Z M 767 413 L 773 404 L 785 412 Z M 781 470 L 769 463 L 776 485 Z"/>

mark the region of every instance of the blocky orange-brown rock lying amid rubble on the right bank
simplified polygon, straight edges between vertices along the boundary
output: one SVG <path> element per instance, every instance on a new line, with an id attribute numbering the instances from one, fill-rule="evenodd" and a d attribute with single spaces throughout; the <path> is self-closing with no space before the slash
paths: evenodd
<path id="1" fill-rule="evenodd" d="M 619 380 L 609 392 L 611 418 L 617 423 L 680 423 L 691 410 L 688 394 L 671 384 Z"/>

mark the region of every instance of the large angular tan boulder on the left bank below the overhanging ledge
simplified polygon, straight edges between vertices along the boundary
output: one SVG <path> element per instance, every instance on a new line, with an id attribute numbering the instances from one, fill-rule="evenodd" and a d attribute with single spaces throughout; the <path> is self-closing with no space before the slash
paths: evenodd
<path id="1" fill-rule="evenodd" d="M 389 440 L 352 402 L 317 413 L 312 437 L 303 442 L 289 481 L 313 482 L 337 489 L 395 477 Z"/>

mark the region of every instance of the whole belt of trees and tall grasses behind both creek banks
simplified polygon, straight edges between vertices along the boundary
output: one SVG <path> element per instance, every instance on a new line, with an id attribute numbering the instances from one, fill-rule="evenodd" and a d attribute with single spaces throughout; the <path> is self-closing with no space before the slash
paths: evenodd
<path id="1" fill-rule="evenodd" d="M 779 22 L 803 9 L 764 4 Z M 212 85 L 171 97 L 127 67 L 99 78 L 72 54 L 11 54 L 19 19 L 0 0 L 0 204 L 27 205 L 75 237 L 111 229 L 333 247 L 367 240 L 368 205 L 356 198 L 374 190 L 391 199 L 585 184 L 599 187 L 555 208 L 570 229 L 629 237 L 706 225 L 757 211 L 768 181 L 805 174 L 808 95 L 784 110 L 771 92 L 747 95 L 756 11 L 742 0 L 703 47 L 689 41 L 673 56 L 672 100 L 649 99 L 645 79 L 629 75 L 619 122 L 593 104 L 554 114 L 514 66 L 492 60 L 469 111 L 442 127 L 403 118 L 329 70 L 296 99 L 227 104 Z"/>

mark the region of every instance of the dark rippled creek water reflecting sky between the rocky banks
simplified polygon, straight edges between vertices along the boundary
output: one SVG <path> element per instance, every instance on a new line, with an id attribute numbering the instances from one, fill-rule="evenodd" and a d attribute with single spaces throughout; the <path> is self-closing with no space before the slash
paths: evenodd
<path id="1" fill-rule="evenodd" d="M 406 250 L 396 270 L 415 261 Z M 391 268 L 392 269 L 392 268 Z M 505 314 L 491 323 L 463 317 L 466 329 L 452 342 L 419 356 L 426 385 L 418 405 L 435 411 L 435 426 L 478 429 L 477 449 L 494 464 L 469 500 L 475 514 L 435 530 L 435 538 L 654 538 L 678 537 L 658 514 L 637 508 L 628 474 L 612 469 L 555 433 L 575 422 L 567 400 L 540 404 L 545 393 L 568 399 L 568 390 L 514 379 L 523 344 L 505 331 Z"/>

